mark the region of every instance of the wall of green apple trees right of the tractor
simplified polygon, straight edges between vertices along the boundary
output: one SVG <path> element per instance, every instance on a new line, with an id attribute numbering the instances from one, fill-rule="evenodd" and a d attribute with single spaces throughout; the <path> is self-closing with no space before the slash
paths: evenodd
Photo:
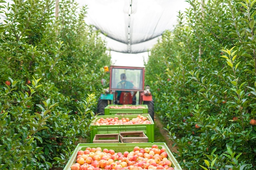
<path id="1" fill-rule="evenodd" d="M 188 2 L 146 65 L 155 112 L 184 169 L 256 169 L 255 1 Z"/>

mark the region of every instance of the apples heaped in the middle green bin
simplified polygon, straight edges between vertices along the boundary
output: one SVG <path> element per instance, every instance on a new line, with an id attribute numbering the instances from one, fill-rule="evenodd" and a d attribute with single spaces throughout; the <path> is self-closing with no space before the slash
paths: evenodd
<path id="1" fill-rule="evenodd" d="M 111 124 L 151 124 L 147 117 L 138 115 L 137 118 L 99 118 L 94 125 L 111 125 Z"/>

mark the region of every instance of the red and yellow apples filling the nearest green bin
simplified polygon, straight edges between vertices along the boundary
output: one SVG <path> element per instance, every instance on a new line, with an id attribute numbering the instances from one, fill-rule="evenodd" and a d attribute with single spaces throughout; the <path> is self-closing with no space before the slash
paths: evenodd
<path id="1" fill-rule="evenodd" d="M 151 148 L 135 146 L 132 151 L 124 153 L 88 147 L 78 151 L 76 163 L 72 164 L 71 170 L 173 170 L 171 166 L 166 149 L 159 149 L 154 144 Z"/>

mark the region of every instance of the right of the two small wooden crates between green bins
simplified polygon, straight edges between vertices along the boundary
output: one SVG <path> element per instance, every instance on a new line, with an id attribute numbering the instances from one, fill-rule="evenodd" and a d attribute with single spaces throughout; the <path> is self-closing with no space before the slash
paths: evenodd
<path id="1" fill-rule="evenodd" d="M 119 138 L 121 143 L 148 142 L 148 137 L 143 131 L 120 132 Z"/>

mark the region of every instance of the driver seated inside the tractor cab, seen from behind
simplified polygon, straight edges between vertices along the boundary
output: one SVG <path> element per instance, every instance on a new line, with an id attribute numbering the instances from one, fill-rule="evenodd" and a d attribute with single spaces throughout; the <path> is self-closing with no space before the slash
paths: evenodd
<path id="1" fill-rule="evenodd" d="M 121 76 L 121 81 L 119 83 L 117 83 L 117 88 L 118 89 L 137 89 L 137 87 L 135 87 L 135 85 L 132 84 L 132 82 L 130 81 L 126 81 L 126 74 L 122 73 Z M 119 103 L 120 100 L 120 96 L 121 96 L 121 92 L 122 91 L 117 91 L 117 101 Z M 132 105 L 136 104 L 136 91 L 133 92 L 132 94 Z"/>

